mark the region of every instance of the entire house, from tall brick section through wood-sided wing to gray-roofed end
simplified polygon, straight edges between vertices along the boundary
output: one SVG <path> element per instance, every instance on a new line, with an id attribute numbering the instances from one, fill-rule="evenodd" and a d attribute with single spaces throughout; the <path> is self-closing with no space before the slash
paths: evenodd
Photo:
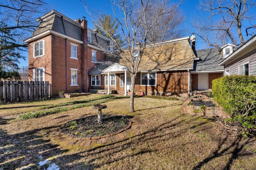
<path id="1" fill-rule="evenodd" d="M 37 21 L 32 36 L 24 40 L 29 43 L 29 81 L 49 81 L 52 96 L 62 90 L 129 94 L 129 69 L 104 54 L 98 44 L 109 46 L 111 41 L 87 28 L 85 19 L 71 20 L 52 10 Z M 150 48 L 147 45 L 145 51 Z M 218 65 L 223 53 L 196 51 L 194 35 L 160 42 L 154 52 L 150 64 L 137 74 L 136 94 L 188 96 L 195 90 L 210 90 L 212 80 L 223 74 Z"/>

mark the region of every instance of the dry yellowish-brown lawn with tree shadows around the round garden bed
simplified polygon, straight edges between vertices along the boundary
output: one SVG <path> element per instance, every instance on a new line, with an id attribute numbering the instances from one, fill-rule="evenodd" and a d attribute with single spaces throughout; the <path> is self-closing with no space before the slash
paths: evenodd
<path id="1" fill-rule="evenodd" d="M 53 163 L 61 170 L 256 169 L 254 138 L 230 138 L 218 130 L 219 124 L 214 119 L 182 115 L 184 100 L 138 97 L 134 98 L 135 111 L 129 113 L 129 98 L 96 100 L 98 96 L 0 105 L 0 170 L 29 166 L 28 169 L 43 170 Z M 123 141 L 90 148 L 67 147 L 50 141 L 48 134 L 55 127 L 97 114 L 91 105 L 74 107 L 88 99 L 94 103 L 103 101 L 107 105 L 103 114 L 134 117 L 139 124 L 135 133 Z M 65 106 L 68 102 L 73 105 Z M 47 110 L 47 106 L 54 109 L 50 107 L 53 104 L 72 109 L 38 118 L 16 119 L 19 114 Z M 44 160 L 48 162 L 38 167 Z"/>

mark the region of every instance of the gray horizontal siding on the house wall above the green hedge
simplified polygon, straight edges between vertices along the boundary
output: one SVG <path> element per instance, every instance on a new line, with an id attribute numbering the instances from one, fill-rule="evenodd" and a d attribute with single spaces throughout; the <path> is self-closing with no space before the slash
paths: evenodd
<path id="1" fill-rule="evenodd" d="M 251 53 L 244 55 L 240 59 L 228 64 L 224 67 L 224 71 L 229 69 L 230 75 L 237 75 L 238 74 L 238 67 L 241 64 L 249 63 L 249 75 L 256 76 L 256 49 L 253 50 Z"/>

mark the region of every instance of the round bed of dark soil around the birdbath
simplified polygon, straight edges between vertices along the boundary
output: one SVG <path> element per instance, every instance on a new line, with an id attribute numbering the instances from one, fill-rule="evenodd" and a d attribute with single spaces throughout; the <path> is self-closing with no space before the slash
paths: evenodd
<path id="1" fill-rule="evenodd" d="M 72 137 L 97 137 L 120 131 L 129 122 L 124 116 L 103 115 L 102 123 L 98 123 L 97 115 L 92 115 L 69 121 L 62 127 L 62 131 Z"/>

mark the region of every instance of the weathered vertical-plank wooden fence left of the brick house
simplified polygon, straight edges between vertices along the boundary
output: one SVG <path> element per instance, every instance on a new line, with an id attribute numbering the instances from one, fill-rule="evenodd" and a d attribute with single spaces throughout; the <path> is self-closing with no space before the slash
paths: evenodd
<path id="1" fill-rule="evenodd" d="M 0 100 L 4 103 L 51 98 L 49 82 L 0 81 Z"/>

